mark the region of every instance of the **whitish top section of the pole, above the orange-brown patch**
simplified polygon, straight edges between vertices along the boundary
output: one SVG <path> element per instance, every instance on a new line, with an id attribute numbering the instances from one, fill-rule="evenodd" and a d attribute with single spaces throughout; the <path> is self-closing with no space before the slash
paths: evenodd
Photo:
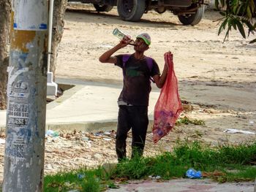
<path id="1" fill-rule="evenodd" d="M 15 30 L 45 31 L 48 23 L 48 3 L 44 0 L 13 0 Z"/>

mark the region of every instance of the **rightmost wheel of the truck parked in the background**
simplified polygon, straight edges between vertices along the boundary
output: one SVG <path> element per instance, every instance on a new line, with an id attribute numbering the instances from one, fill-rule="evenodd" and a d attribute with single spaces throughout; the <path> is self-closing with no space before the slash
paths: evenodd
<path id="1" fill-rule="evenodd" d="M 199 7 L 197 9 L 196 13 L 185 14 L 185 15 L 178 15 L 178 20 L 180 20 L 181 23 L 184 24 L 184 25 L 195 26 L 203 18 L 204 11 L 205 11 L 205 6 Z"/>

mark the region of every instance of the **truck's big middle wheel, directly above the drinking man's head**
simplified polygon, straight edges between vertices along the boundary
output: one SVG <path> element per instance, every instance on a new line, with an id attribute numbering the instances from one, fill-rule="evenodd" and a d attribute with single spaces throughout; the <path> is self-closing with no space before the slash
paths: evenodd
<path id="1" fill-rule="evenodd" d="M 145 12 L 145 6 L 145 0 L 118 0 L 118 15 L 122 20 L 138 21 Z"/>

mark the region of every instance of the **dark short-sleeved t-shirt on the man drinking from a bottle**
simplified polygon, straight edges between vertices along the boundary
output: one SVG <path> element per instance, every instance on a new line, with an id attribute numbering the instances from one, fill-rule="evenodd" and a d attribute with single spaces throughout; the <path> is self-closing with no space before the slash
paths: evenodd
<path id="1" fill-rule="evenodd" d="M 118 101 L 148 106 L 151 91 L 150 77 L 160 74 L 157 62 L 152 59 L 152 69 L 149 69 L 146 58 L 136 59 L 132 54 L 125 65 L 123 64 L 123 55 L 117 55 L 116 58 L 115 65 L 121 67 L 124 74 L 124 85 Z"/>

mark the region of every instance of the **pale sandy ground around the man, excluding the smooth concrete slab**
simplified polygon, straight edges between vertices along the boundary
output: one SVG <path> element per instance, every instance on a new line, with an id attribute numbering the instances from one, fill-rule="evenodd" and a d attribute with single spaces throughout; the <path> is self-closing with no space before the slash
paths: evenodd
<path id="1" fill-rule="evenodd" d="M 97 13 L 88 5 L 83 10 L 78 10 L 78 5 L 72 7 L 77 10 L 68 11 L 65 16 L 57 78 L 121 84 L 121 69 L 98 61 L 99 55 L 118 43 L 112 34 L 114 28 L 132 37 L 142 32 L 150 34 L 152 42 L 146 55 L 153 57 L 161 70 L 164 53 L 170 50 L 174 55 L 181 99 L 193 107 L 181 116 L 204 120 L 206 124 L 178 126 L 157 145 L 148 133 L 145 155 L 173 150 L 176 139 L 198 139 L 212 146 L 255 141 L 255 134 L 224 132 L 227 128 L 256 132 L 256 45 L 249 44 L 255 36 L 244 40 L 232 31 L 229 40 L 222 43 L 225 33 L 218 36 L 218 22 L 214 22 L 220 15 L 213 11 L 206 11 L 197 26 L 182 26 L 170 12 L 148 12 L 140 22 L 129 23 L 118 18 L 116 9 Z M 132 46 L 127 46 L 118 54 L 132 51 Z M 116 162 L 114 133 L 111 137 L 83 132 L 61 136 L 46 140 L 46 173 L 81 164 Z"/>

